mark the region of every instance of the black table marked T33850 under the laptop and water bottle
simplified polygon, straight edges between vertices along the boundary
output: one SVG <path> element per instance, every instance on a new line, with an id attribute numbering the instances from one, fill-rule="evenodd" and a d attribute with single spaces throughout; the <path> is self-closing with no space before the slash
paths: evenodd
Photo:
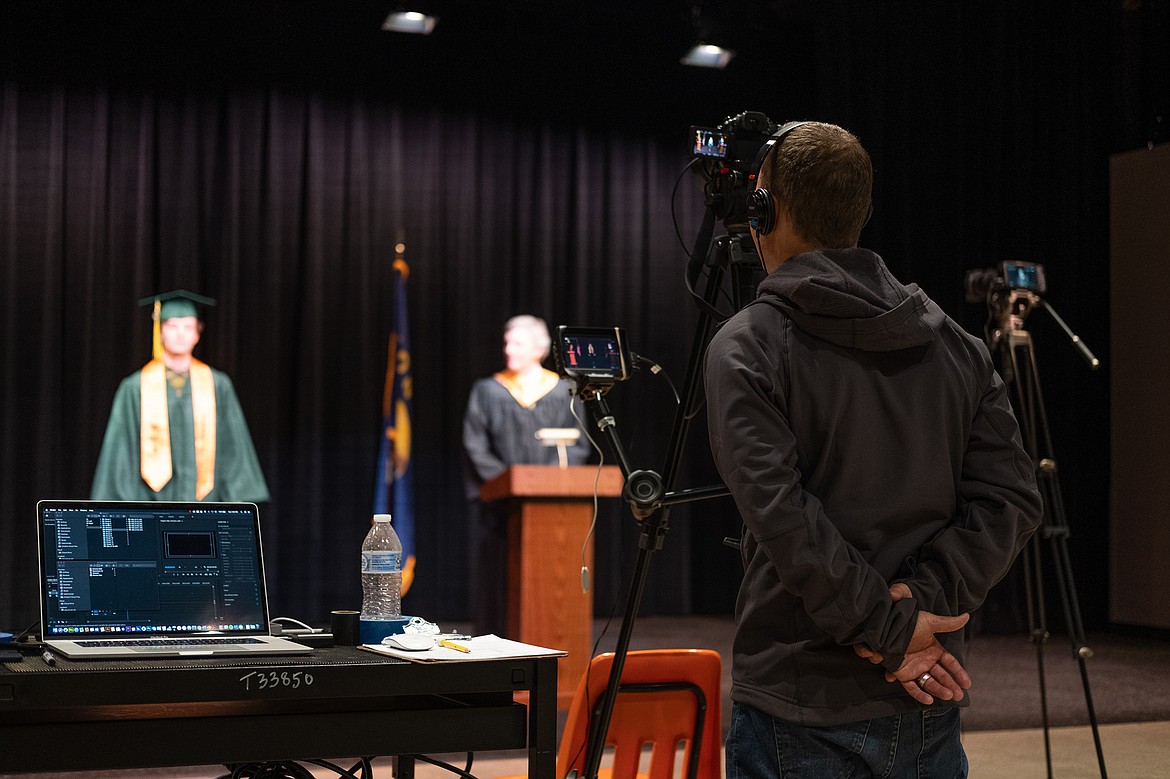
<path id="1" fill-rule="evenodd" d="M 526 691 L 528 705 L 514 702 Z M 0 664 L 0 773 L 526 749 L 552 779 L 553 657 L 310 656 Z M 405 758 L 405 759 L 402 759 Z"/>

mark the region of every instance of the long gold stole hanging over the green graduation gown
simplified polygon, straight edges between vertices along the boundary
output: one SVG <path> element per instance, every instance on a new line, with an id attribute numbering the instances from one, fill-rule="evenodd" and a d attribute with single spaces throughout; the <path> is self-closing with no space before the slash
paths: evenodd
<path id="1" fill-rule="evenodd" d="M 215 384 L 206 363 L 191 359 L 191 411 L 195 422 L 195 499 L 215 487 Z M 139 453 L 142 476 L 158 492 L 173 475 L 171 425 L 167 416 L 166 365 L 151 360 L 142 370 Z"/>

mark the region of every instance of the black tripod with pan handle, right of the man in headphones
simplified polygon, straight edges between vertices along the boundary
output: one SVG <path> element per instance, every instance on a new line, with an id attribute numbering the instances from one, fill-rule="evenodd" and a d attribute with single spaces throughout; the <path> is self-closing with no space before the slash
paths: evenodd
<path id="1" fill-rule="evenodd" d="M 1101 735 L 1097 730 L 1096 712 L 1093 709 L 1093 692 L 1089 689 L 1088 668 L 1085 661 L 1093 656 L 1093 650 L 1085 644 L 1085 628 L 1081 623 L 1080 606 L 1076 601 L 1076 590 L 1073 586 L 1073 566 L 1068 556 L 1068 522 L 1065 518 L 1065 503 L 1060 491 L 1060 480 L 1057 460 L 1053 455 L 1052 436 L 1048 432 L 1048 416 L 1044 409 L 1044 394 L 1040 389 L 1040 373 L 1035 364 L 1035 351 L 1032 336 L 1024 329 L 1024 320 L 1033 308 L 1040 306 L 1052 315 L 1053 319 L 1068 335 L 1073 344 L 1096 368 L 1100 361 L 1085 346 L 1068 325 L 1046 304 L 1039 295 L 1023 289 L 1004 290 L 993 294 L 1004 303 L 1000 328 L 996 332 L 1003 350 L 1003 377 L 1013 388 L 1013 404 L 1019 418 L 1024 447 L 1032 456 L 1037 467 L 1037 484 L 1044 497 L 1044 517 L 1039 531 L 1024 550 L 1023 565 L 1025 593 L 1027 598 L 1028 630 L 1035 644 L 1037 664 L 1040 676 L 1040 708 L 1044 722 L 1044 752 L 1052 779 L 1052 745 L 1048 737 L 1048 695 L 1044 675 L 1044 647 L 1048 640 L 1047 616 L 1045 612 L 1044 575 L 1041 571 L 1041 546 L 1052 552 L 1052 567 L 1057 578 L 1057 588 L 1064 608 L 1068 640 L 1072 642 L 1073 656 L 1080 664 L 1081 685 L 1085 688 L 1085 705 L 1088 708 L 1089 725 L 1093 730 L 1093 743 L 1096 746 L 1097 765 L 1101 779 L 1106 779 L 1104 754 L 1101 751 Z"/>

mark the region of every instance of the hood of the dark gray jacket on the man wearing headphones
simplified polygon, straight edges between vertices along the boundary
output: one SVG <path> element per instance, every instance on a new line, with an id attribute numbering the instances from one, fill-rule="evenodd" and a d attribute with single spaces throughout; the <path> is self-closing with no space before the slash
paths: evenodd
<path id="1" fill-rule="evenodd" d="M 811 336 L 868 352 L 930 343 L 947 318 L 917 284 L 902 284 L 881 257 L 858 248 L 791 257 L 760 282 L 753 303 L 780 309 Z"/>

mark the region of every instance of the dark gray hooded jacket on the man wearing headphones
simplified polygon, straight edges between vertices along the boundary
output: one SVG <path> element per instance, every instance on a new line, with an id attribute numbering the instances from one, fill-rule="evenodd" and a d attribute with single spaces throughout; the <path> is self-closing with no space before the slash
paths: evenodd
<path id="1" fill-rule="evenodd" d="M 977 608 L 1040 521 L 986 346 L 876 254 L 812 251 L 716 333 L 706 381 L 744 522 L 732 699 L 806 725 L 921 708 L 882 675 L 918 609 Z M 940 637 L 963 662 L 962 633 Z"/>

